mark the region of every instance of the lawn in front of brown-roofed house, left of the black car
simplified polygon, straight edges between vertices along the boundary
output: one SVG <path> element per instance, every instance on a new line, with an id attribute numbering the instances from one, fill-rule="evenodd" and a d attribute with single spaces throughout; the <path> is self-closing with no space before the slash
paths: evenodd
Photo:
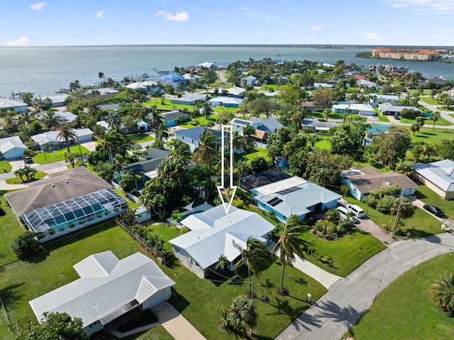
<path id="1" fill-rule="evenodd" d="M 382 226 L 382 224 L 388 224 L 390 226 L 394 225 L 394 221 L 396 219 L 395 215 L 382 214 L 372 207 L 367 208 L 367 204 L 358 201 L 358 199 L 355 199 L 350 195 L 348 195 L 346 199 L 350 204 L 358 204 L 360 207 L 362 207 L 362 209 L 364 209 L 366 213 L 366 216 L 372 219 L 372 221 L 374 221 L 379 226 Z M 402 227 L 404 234 L 409 232 L 411 234 L 411 237 L 414 238 L 439 234 L 442 232 L 440 221 L 433 218 L 433 216 L 427 214 L 425 211 L 419 208 L 415 209 L 413 216 L 406 219 L 400 219 L 400 221 L 404 223 L 404 226 Z"/>

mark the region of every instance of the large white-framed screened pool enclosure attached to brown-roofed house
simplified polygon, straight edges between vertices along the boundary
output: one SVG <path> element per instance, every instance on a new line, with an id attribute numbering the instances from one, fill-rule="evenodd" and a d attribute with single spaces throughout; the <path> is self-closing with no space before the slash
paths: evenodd
<path id="1" fill-rule="evenodd" d="M 21 216 L 40 241 L 67 234 L 84 226 L 126 212 L 128 202 L 111 189 L 67 199 Z"/>

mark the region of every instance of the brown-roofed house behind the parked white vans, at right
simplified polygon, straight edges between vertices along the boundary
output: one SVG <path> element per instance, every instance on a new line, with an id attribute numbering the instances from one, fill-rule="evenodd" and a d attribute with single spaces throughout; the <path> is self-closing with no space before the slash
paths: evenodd
<path id="1" fill-rule="evenodd" d="M 414 194 L 415 182 L 406 175 L 397 172 L 380 172 L 373 168 L 359 168 L 341 172 L 341 183 L 348 185 L 350 194 L 362 201 L 371 191 L 382 187 L 397 185 L 401 188 L 400 194 L 408 196 Z"/>

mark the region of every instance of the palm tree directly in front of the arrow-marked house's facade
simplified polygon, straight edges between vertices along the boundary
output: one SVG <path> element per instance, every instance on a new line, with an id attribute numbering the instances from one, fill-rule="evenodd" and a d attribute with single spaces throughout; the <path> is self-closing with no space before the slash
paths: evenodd
<path id="1" fill-rule="evenodd" d="M 260 277 L 260 265 L 267 261 L 267 251 L 262 241 L 259 241 L 257 238 L 248 238 L 246 248 L 244 248 L 241 253 L 244 263 L 246 267 L 248 267 L 249 292 L 251 299 L 253 299 L 252 280 L 250 280 L 250 275 L 253 273 L 255 277 Z M 235 265 L 235 271 L 237 271 L 241 265 L 243 265 L 243 261 L 238 261 Z"/>

